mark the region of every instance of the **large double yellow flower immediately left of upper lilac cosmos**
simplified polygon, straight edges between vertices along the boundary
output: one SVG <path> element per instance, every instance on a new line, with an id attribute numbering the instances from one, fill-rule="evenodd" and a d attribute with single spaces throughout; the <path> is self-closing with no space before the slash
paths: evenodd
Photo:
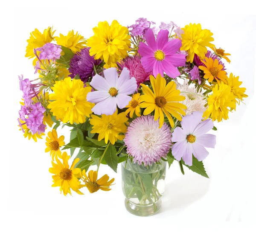
<path id="1" fill-rule="evenodd" d="M 49 95 L 51 102 L 47 106 L 54 116 L 67 123 L 84 123 L 92 113 L 93 103 L 87 102 L 87 93 L 91 87 L 84 87 L 81 80 L 70 77 L 56 81 L 51 88 L 54 93 Z"/>

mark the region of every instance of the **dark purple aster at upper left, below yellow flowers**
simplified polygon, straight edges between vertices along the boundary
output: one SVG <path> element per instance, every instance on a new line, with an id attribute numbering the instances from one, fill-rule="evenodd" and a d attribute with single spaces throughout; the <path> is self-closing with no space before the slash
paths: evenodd
<path id="1" fill-rule="evenodd" d="M 100 59 L 94 60 L 94 56 L 90 56 L 89 50 L 90 48 L 88 47 L 77 52 L 70 60 L 70 68 L 68 69 L 71 73 L 69 75 L 71 78 L 79 74 L 80 79 L 84 83 L 87 82 L 89 77 L 95 75 L 93 65 L 97 66 L 102 62 Z"/>

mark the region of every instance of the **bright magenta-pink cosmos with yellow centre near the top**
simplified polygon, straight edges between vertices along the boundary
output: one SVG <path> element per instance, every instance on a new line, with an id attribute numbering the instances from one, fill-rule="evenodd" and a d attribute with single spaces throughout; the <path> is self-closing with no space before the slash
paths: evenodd
<path id="1" fill-rule="evenodd" d="M 168 41 L 168 35 L 168 30 L 160 30 L 155 40 L 152 29 L 148 29 L 145 32 L 147 44 L 140 42 L 138 52 L 142 56 L 141 63 L 146 72 L 153 70 L 155 77 L 159 73 L 163 77 L 165 72 L 169 77 L 176 78 L 180 75 L 177 67 L 186 63 L 186 56 L 177 53 L 180 51 L 181 40 Z"/>

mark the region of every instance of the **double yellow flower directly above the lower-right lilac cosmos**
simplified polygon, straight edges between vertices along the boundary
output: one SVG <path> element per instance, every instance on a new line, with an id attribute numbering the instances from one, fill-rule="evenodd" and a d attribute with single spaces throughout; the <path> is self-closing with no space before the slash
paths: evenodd
<path id="1" fill-rule="evenodd" d="M 213 121 L 222 119 L 228 119 L 229 108 L 235 108 L 236 102 L 234 101 L 235 96 L 231 91 L 230 86 L 221 82 L 212 89 L 212 95 L 207 98 L 208 108 L 204 112 L 203 117 L 210 117 Z"/>

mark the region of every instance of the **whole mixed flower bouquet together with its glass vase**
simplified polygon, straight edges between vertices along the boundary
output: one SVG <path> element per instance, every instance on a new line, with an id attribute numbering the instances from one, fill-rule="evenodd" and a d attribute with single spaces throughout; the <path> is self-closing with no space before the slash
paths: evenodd
<path id="1" fill-rule="evenodd" d="M 203 160 L 214 148 L 214 121 L 228 119 L 245 94 L 227 74 L 229 53 L 212 32 L 172 21 L 155 26 L 99 22 L 85 39 L 48 27 L 27 40 L 35 80 L 19 76 L 18 123 L 24 137 L 42 139 L 52 158 L 53 187 L 65 196 L 111 190 L 114 178 L 99 167 L 122 169 L 126 209 L 153 215 L 161 208 L 166 164 L 178 162 L 208 178 Z M 56 129 L 70 127 L 70 141 Z M 75 154 L 75 155 L 74 155 Z M 73 162 L 69 159 L 73 156 Z"/>

